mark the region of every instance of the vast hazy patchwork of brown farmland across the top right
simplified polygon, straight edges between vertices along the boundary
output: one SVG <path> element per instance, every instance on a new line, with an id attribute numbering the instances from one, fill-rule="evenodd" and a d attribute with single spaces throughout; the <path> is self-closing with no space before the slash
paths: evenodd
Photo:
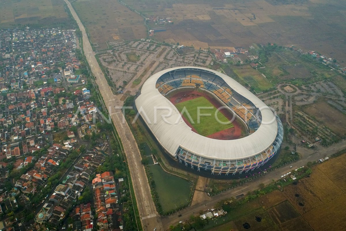
<path id="1" fill-rule="evenodd" d="M 331 1 L 195 1 L 124 0 L 144 16 L 171 17 L 159 41 L 194 47 L 247 47 L 252 43 L 294 44 L 346 60 L 342 2 Z M 196 4 L 198 3 L 198 4 Z M 328 19 L 326 24 L 321 15 Z M 297 28 L 295 25 L 299 25 Z"/>

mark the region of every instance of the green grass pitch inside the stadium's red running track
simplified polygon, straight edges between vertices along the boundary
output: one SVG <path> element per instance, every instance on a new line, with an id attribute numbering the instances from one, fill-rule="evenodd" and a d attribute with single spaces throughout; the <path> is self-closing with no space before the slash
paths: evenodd
<path id="1" fill-rule="evenodd" d="M 195 99 L 187 100 L 181 103 L 177 103 L 175 107 L 181 113 L 186 108 L 182 114 L 184 118 L 193 126 L 198 134 L 203 136 L 208 136 L 216 132 L 223 131 L 227 128 L 234 127 L 232 123 L 221 124 L 215 118 L 215 111 L 217 108 L 212 105 L 208 99 L 204 97 L 198 97 Z M 211 114 L 210 116 L 200 116 L 200 122 L 198 123 L 198 107 L 210 107 L 210 109 L 200 109 L 200 114 Z M 189 116 L 190 115 L 190 116 Z M 221 122 L 229 122 L 229 120 L 222 114 L 217 114 Z M 192 119 L 192 121 L 191 121 Z"/>

